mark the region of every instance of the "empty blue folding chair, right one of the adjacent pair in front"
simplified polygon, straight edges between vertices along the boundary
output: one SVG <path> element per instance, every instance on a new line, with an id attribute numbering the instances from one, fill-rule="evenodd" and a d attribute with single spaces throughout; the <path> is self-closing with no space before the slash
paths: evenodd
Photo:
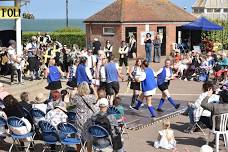
<path id="1" fill-rule="evenodd" d="M 78 130 L 72 124 L 59 123 L 57 128 L 59 130 L 60 142 L 63 145 L 61 148 L 62 151 L 66 145 L 81 145 L 82 149 L 84 149 Z"/>

